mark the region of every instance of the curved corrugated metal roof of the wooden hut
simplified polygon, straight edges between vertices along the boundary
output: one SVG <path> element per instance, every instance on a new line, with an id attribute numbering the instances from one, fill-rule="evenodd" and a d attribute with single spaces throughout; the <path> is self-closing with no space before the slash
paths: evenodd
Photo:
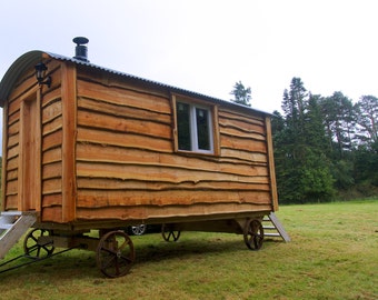
<path id="1" fill-rule="evenodd" d="M 74 58 L 69 58 L 69 57 L 64 57 L 64 56 L 60 56 L 60 54 L 56 54 L 56 53 L 51 53 L 51 52 L 44 52 L 44 51 L 39 51 L 39 50 L 34 50 L 34 51 L 30 51 L 24 53 L 23 56 L 21 56 L 20 58 L 18 58 L 12 66 L 8 69 L 8 71 L 6 72 L 4 77 L 2 78 L 1 82 L 0 82 L 0 107 L 3 107 L 4 101 L 8 99 L 9 93 L 11 92 L 16 81 L 18 80 L 19 76 L 24 72 L 27 69 L 30 68 L 30 66 L 34 66 L 37 64 L 39 61 L 42 60 L 43 54 L 48 54 L 49 57 L 51 57 L 52 59 L 57 59 L 57 60 L 63 60 L 63 61 L 70 61 L 73 62 L 76 64 L 82 64 L 89 68 L 94 68 L 105 72 L 109 72 L 109 73 L 113 73 L 113 74 L 118 74 L 125 78 L 129 78 L 142 83 L 148 83 L 148 84 L 152 84 L 155 87 L 159 87 L 162 89 L 167 89 L 171 92 L 176 92 L 176 93 L 180 93 L 183 96 L 188 96 L 188 97 L 193 97 L 193 98 L 198 98 L 198 99 L 203 99 L 210 102 L 215 102 L 215 103 L 221 103 L 221 104 L 226 104 L 226 106 L 232 106 L 232 107 L 239 107 L 242 109 L 247 109 L 247 110 L 252 110 L 252 111 L 257 111 L 257 112 L 261 112 L 263 114 L 270 114 L 260 110 L 256 110 L 249 107 L 245 107 L 245 106 L 240 106 L 238 103 L 233 103 L 230 101 L 226 101 L 226 100 L 221 100 L 218 98 L 213 98 L 210 96 L 206 96 L 206 94 L 201 94 L 198 92 L 193 92 L 193 91 L 189 91 L 186 89 L 180 89 L 177 87 L 172 87 L 169 84 L 165 84 L 158 81 L 153 81 L 153 80 L 149 80 L 149 79 L 145 79 L 145 78 L 140 78 L 140 77 L 136 77 L 129 73 L 125 73 L 125 72 L 120 72 L 120 71 L 116 71 L 112 69 L 108 69 L 101 66 L 97 66 L 93 63 L 90 63 L 88 61 L 83 61 L 83 60 L 79 60 L 79 59 L 74 59 Z"/>

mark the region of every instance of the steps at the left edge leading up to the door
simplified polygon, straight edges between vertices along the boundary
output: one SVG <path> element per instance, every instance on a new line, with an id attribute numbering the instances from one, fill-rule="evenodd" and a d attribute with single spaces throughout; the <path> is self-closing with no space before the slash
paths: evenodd
<path id="1" fill-rule="evenodd" d="M 0 259 L 3 259 L 14 243 L 37 221 L 37 213 L 3 211 L 0 213 Z"/>

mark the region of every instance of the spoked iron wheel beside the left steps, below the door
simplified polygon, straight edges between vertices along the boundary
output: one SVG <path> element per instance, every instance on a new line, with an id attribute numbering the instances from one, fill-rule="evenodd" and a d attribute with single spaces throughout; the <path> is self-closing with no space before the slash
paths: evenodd
<path id="1" fill-rule="evenodd" d="M 34 259 L 50 257 L 56 248 L 49 237 L 50 231 L 46 229 L 37 228 L 30 231 L 23 240 L 24 254 Z"/>

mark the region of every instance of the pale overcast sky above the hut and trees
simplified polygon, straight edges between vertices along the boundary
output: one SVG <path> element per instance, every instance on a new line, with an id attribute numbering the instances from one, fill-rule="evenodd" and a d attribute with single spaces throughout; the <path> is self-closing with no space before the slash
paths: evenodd
<path id="1" fill-rule="evenodd" d="M 30 50 L 228 100 L 235 82 L 252 107 L 279 110 L 292 77 L 312 93 L 378 97 L 378 1 L 9 0 L 0 4 L 0 78 Z"/>

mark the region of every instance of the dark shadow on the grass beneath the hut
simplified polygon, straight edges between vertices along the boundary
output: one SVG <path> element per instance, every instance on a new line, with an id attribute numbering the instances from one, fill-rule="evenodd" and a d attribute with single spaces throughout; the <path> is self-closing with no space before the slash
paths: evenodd
<path id="1" fill-rule="evenodd" d="M 186 232 L 187 233 L 187 232 Z M 161 262 L 169 260 L 182 260 L 196 258 L 199 256 L 230 256 L 235 252 L 245 251 L 253 252 L 247 248 L 242 236 L 239 234 L 217 234 L 217 233 L 188 233 L 189 238 L 180 238 L 177 242 L 166 242 L 161 240 L 160 234 L 149 234 L 143 237 L 135 237 L 136 260 L 133 264 L 143 266 L 151 262 Z M 272 243 L 279 240 L 269 239 L 262 246 L 260 251 L 269 251 Z M 62 250 L 62 249 L 58 249 Z M 6 260 L 12 259 L 6 258 Z M 0 261 L 2 263 L 3 261 Z M 96 253 L 86 250 L 71 250 L 58 256 L 53 256 L 46 260 L 36 261 L 34 263 L 2 272 L 7 268 L 17 266 L 18 263 L 28 263 L 30 259 L 21 258 L 14 263 L 0 268 L 0 281 L 3 283 L 12 282 L 12 280 L 22 281 L 48 281 L 54 280 L 72 280 L 74 279 L 98 279 L 102 274 L 97 267 Z M 132 268 L 131 268 L 132 271 Z"/>

